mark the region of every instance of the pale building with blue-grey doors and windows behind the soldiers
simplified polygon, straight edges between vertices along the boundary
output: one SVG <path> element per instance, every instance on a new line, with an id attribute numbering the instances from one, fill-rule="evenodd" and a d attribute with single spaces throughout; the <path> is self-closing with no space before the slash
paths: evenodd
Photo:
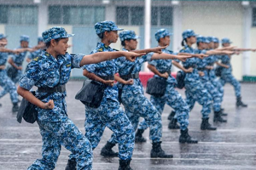
<path id="1" fill-rule="evenodd" d="M 21 34 L 29 35 L 33 46 L 42 31 L 63 26 L 76 34 L 70 38 L 69 52 L 90 54 L 99 41 L 94 24 L 101 20 L 136 31 L 142 37 L 138 48 L 144 48 L 144 19 L 144 0 L 0 0 L 0 32 L 8 36 L 8 48 L 19 46 Z M 181 49 L 186 29 L 203 36 L 229 37 L 237 47 L 256 48 L 256 2 L 152 0 L 151 47 L 157 45 L 154 32 L 160 28 L 173 32 L 170 49 L 174 51 Z M 112 47 L 119 49 L 120 42 Z M 231 62 L 238 80 L 256 77 L 256 53 L 235 55 Z M 80 77 L 82 71 L 73 70 L 72 76 Z"/>

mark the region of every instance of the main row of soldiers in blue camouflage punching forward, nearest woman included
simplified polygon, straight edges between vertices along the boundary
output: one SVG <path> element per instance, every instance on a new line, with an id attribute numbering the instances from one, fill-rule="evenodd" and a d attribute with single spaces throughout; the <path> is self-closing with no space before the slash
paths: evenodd
<path id="1" fill-rule="evenodd" d="M 53 27 L 44 31 L 42 36 L 46 50 L 32 60 L 20 79 L 18 94 L 38 106 L 31 114 L 36 117 L 34 121 L 38 122 L 43 139 L 43 158 L 35 161 L 28 169 L 54 169 L 61 145 L 72 152 L 66 170 L 92 169 L 92 150 L 99 144 L 105 127 L 113 131 L 113 134 L 102 148 L 101 155 L 118 156 L 119 170 L 131 169 L 135 141 L 145 141 L 142 134 L 147 127 L 149 139 L 152 140 L 150 156 L 172 158 L 171 154 L 161 148 L 161 113 L 166 103 L 174 109 L 175 114 L 172 115 L 180 124 L 180 143 L 198 142 L 189 135 L 189 111 L 195 101 L 203 105 L 201 129 L 216 130 L 208 122 L 208 118 L 213 102 L 216 114 L 214 120 L 223 120 L 221 99 L 213 99 L 215 94 L 209 94 L 206 88 L 210 85 L 201 82 L 201 77 L 205 76 L 203 67 L 209 65 L 201 66 L 200 71 L 197 69 L 198 65 L 212 55 L 231 55 L 235 51 L 246 49 L 199 48 L 195 52 L 191 45 L 196 42 L 196 35 L 194 31 L 188 30 L 183 32 L 183 50 L 174 53 L 167 49 L 172 34 L 166 29 L 160 29 L 155 33 L 158 47 L 137 50 L 139 37 L 134 31 L 122 31 L 112 21 L 96 23 L 95 30 L 101 42 L 97 43 L 89 55 L 67 53 L 68 37 L 73 37 L 73 34 L 67 34 L 63 28 Z M 118 31 L 122 32 L 118 34 Z M 118 38 L 124 47 L 121 51 L 110 47 Z M 205 42 L 202 43 L 206 48 Z M 150 99 L 145 97 L 139 79 L 139 71 L 147 61 L 148 68 L 155 74 L 147 89 L 152 94 Z M 180 61 L 183 65 L 179 64 Z M 186 72 L 183 75 L 186 100 L 175 89 L 177 83 L 171 74 L 172 63 Z M 76 99 L 85 106 L 85 135 L 68 118 L 65 101 L 65 84 L 70 77 L 70 71 L 72 68 L 81 67 L 84 76 L 89 78 L 84 81 L 83 88 L 76 95 Z M 156 84 L 160 84 L 161 88 Z M 35 95 L 29 91 L 32 86 L 38 87 Z M 124 105 L 125 111 L 120 104 Z M 144 121 L 139 123 L 139 117 L 143 117 Z M 119 145 L 118 153 L 112 150 L 115 144 Z"/>

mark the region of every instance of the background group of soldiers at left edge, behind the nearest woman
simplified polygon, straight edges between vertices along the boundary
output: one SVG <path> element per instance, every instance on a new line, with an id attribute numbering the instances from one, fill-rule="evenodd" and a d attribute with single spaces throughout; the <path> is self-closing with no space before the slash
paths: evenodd
<path id="1" fill-rule="evenodd" d="M 38 45 L 31 48 L 29 46 L 29 37 L 26 35 L 20 36 L 20 46 L 18 48 L 9 49 L 7 36 L 0 34 L 0 86 L 3 88 L 0 91 L 0 99 L 5 94 L 10 95 L 13 104 L 12 112 L 16 113 L 19 110 L 17 88 L 15 84 L 19 82 L 23 74 L 22 64 L 27 56 L 26 61 L 30 62 L 31 59 L 38 56 L 44 48 L 44 40 L 38 37 Z M 10 56 L 10 57 L 9 57 Z M 7 65 L 7 63 L 9 65 Z M 0 107 L 2 104 L 0 104 Z"/>

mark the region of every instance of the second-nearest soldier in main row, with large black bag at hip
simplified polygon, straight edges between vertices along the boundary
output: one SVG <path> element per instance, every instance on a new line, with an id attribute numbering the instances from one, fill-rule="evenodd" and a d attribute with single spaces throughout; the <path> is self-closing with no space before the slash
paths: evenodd
<path id="1" fill-rule="evenodd" d="M 113 21 L 102 21 L 95 25 L 96 34 L 101 38 L 101 42 L 97 43 L 95 50 L 91 54 L 99 52 L 112 52 L 115 49 L 109 47 L 112 42 L 117 42 L 117 31 L 123 30 L 118 28 Z M 104 82 L 109 86 L 104 90 L 101 105 L 98 108 L 92 108 L 85 105 L 85 136 L 90 140 L 92 149 L 94 150 L 99 144 L 105 127 L 115 133 L 117 143 L 119 144 L 119 169 L 131 169 L 130 162 L 134 148 L 134 131 L 125 112 L 119 105 L 118 88 L 113 85 L 114 74 L 118 72 L 116 59 L 107 60 L 98 64 L 85 65 L 84 76 L 91 77 L 96 75 L 102 77 Z M 104 77 L 104 78 L 103 78 Z"/>

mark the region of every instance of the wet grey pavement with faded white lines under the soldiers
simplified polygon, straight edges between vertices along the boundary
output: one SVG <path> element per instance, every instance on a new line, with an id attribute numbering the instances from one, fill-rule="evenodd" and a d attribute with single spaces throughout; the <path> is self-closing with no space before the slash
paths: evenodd
<path id="1" fill-rule="evenodd" d="M 82 82 L 67 83 L 67 111 L 69 117 L 84 133 L 84 105 L 74 99 Z M 224 87 L 224 103 L 227 123 L 216 124 L 217 131 L 201 131 L 201 106 L 196 104 L 189 117 L 189 134 L 199 140 L 198 144 L 179 144 L 179 130 L 169 130 L 167 116 L 172 109 L 166 105 L 162 115 L 162 148 L 173 154 L 172 159 L 151 159 L 151 143 L 148 130 L 143 134 L 147 143 L 136 144 L 131 161 L 134 170 L 162 169 L 256 169 L 256 84 L 241 84 L 242 100 L 247 108 L 236 108 L 233 87 Z M 1 89 L 1 88 L 0 88 Z M 184 97 L 184 90 L 178 90 Z M 147 95 L 148 97 L 148 95 Z M 21 98 L 20 98 L 21 99 Z M 0 99 L 0 170 L 23 170 L 37 158 L 41 158 L 41 136 L 37 124 L 16 122 L 11 113 L 9 94 Z M 106 128 L 102 141 L 94 150 L 94 169 L 118 169 L 118 158 L 104 158 L 100 150 L 110 138 Z M 118 150 L 117 146 L 114 150 Z M 64 170 L 69 151 L 62 147 L 56 170 Z"/>

